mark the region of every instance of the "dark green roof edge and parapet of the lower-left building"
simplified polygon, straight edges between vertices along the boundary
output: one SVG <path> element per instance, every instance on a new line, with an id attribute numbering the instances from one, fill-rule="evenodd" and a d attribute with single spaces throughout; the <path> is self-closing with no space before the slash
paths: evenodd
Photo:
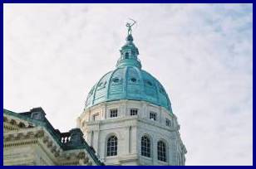
<path id="1" fill-rule="evenodd" d="M 83 138 L 83 133 L 80 128 L 72 128 L 69 132 L 61 133 L 58 129 L 52 127 L 52 124 L 45 117 L 46 113 L 42 108 L 31 109 L 29 112 L 15 113 L 7 109 L 3 109 L 3 114 L 7 114 L 16 118 L 26 120 L 28 123 L 33 123 L 36 126 L 45 128 L 52 138 L 62 147 L 63 151 L 85 149 L 96 162 L 97 165 L 104 166 L 104 163 L 96 156 L 95 151 L 90 147 Z M 69 142 L 63 142 L 62 138 L 69 138 Z"/>

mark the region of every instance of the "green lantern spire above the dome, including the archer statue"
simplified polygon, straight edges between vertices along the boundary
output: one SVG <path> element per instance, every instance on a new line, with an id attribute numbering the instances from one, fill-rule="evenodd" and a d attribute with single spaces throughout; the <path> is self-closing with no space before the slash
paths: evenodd
<path id="1" fill-rule="evenodd" d="M 132 19 L 130 19 L 132 20 Z M 133 43 L 133 36 L 131 35 L 131 27 L 135 25 L 135 21 L 132 20 L 133 23 L 126 23 L 128 35 L 126 37 L 126 44 L 121 47 L 121 57 L 117 60 L 116 67 L 122 66 L 135 66 L 141 68 L 140 60 L 137 58 L 139 55 L 139 50 Z"/>

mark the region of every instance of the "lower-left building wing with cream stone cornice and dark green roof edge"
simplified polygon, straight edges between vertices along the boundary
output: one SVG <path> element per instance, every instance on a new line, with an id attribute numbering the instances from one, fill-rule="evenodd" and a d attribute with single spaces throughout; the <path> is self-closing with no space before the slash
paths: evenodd
<path id="1" fill-rule="evenodd" d="M 68 133 L 52 129 L 42 109 L 3 114 L 3 165 L 103 165 L 86 145 L 79 128 Z"/>

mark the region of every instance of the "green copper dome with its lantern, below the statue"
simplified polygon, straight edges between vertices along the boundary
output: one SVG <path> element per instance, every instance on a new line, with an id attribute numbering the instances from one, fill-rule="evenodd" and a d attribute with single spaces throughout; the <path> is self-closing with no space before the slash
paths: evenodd
<path id="1" fill-rule="evenodd" d="M 106 101 L 130 99 L 147 101 L 172 112 L 163 85 L 148 72 L 141 70 L 138 55 L 139 50 L 133 43 L 133 37 L 128 34 L 125 46 L 121 47 L 116 70 L 103 75 L 92 87 L 86 99 L 86 109 Z"/>

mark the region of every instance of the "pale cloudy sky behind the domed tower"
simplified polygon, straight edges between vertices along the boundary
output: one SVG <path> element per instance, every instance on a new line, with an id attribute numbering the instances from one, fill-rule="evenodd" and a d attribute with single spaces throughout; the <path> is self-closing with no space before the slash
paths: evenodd
<path id="1" fill-rule="evenodd" d="M 186 165 L 252 165 L 252 4 L 4 4 L 4 109 L 42 107 L 55 128 L 76 128 L 128 18 L 142 69 L 170 96 Z"/>

